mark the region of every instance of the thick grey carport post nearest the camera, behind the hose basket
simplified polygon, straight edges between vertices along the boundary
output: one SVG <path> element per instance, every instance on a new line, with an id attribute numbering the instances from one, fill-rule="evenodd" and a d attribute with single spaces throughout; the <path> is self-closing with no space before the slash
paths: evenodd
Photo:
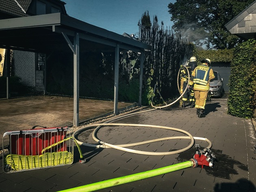
<path id="1" fill-rule="evenodd" d="M 79 34 L 74 37 L 74 122 L 73 127 L 79 125 Z"/>

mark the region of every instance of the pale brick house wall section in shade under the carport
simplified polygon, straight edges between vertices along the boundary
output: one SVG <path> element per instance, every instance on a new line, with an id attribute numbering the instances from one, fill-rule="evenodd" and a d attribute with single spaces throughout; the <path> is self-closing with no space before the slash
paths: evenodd
<path id="1" fill-rule="evenodd" d="M 36 86 L 35 53 L 13 50 L 14 75 L 27 86 Z"/>

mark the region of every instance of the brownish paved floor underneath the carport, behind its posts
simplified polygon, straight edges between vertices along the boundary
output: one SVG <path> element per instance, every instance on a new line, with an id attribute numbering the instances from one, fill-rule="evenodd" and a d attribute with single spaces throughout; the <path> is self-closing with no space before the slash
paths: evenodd
<path id="1" fill-rule="evenodd" d="M 8 131 L 31 129 L 35 125 L 63 127 L 73 124 L 73 98 L 59 96 L 35 96 L 0 100 L 0 137 Z M 118 109 L 132 103 L 118 102 Z M 113 113 L 110 100 L 79 99 L 79 121 Z M 2 140 L 0 141 L 2 146 Z"/>

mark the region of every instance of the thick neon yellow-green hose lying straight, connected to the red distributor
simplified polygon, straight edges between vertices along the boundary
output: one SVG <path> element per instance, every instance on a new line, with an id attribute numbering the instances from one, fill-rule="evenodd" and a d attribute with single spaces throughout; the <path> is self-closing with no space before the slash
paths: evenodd
<path id="1" fill-rule="evenodd" d="M 91 183 L 91 184 L 88 184 L 85 186 L 62 190 L 61 192 L 90 192 L 90 191 L 100 190 L 100 189 L 104 189 L 104 188 L 108 188 L 108 187 L 112 187 L 112 186 L 118 186 L 118 185 L 121 185 L 124 183 L 138 181 L 141 179 L 146 179 L 149 177 L 154 177 L 157 175 L 163 175 L 165 173 L 170 173 L 170 172 L 173 172 L 176 170 L 181 170 L 181 169 L 189 168 L 189 167 L 195 167 L 195 162 L 193 160 L 189 160 L 186 162 L 182 162 L 182 163 L 178 163 L 178 164 L 174 164 L 174 165 L 170 165 L 170 166 L 166 166 L 166 167 L 162 167 L 162 168 L 157 168 L 154 170 L 148 170 L 148 171 L 141 172 L 141 173 L 135 173 L 132 175 L 127 175 L 127 176 L 123 176 L 123 177 L 117 177 L 114 179 L 100 181 L 97 183 Z"/>

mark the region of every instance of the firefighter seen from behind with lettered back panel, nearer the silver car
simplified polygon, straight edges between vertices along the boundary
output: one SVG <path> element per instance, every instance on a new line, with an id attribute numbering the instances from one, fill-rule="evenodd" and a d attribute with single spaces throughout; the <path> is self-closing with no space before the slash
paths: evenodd
<path id="1" fill-rule="evenodd" d="M 207 94 L 210 88 L 210 81 L 215 78 L 213 69 L 210 67 L 210 59 L 203 59 L 202 65 L 195 67 L 189 85 L 194 88 L 195 91 L 195 108 L 198 117 L 205 117 L 204 106 L 207 98 Z"/>

